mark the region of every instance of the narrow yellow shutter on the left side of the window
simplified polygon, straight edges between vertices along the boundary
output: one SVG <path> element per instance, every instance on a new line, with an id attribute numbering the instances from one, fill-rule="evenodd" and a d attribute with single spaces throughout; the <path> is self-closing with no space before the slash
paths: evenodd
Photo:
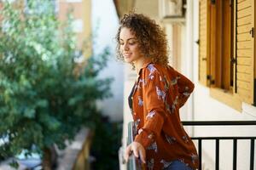
<path id="1" fill-rule="evenodd" d="M 207 86 L 207 0 L 199 2 L 199 82 Z"/>

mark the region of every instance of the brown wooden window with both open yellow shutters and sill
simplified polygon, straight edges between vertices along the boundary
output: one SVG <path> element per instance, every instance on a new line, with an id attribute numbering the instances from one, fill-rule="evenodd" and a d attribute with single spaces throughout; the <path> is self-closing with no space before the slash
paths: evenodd
<path id="1" fill-rule="evenodd" d="M 199 81 L 237 110 L 256 105 L 254 8 L 253 0 L 200 1 Z"/>

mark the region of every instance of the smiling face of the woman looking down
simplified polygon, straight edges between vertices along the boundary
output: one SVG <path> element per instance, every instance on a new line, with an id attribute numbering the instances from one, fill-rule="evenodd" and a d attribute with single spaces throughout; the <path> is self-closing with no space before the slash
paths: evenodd
<path id="1" fill-rule="evenodd" d="M 139 50 L 139 42 L 130 28 L 121 28 L 119 44 L 120 52 L 124 56 L 125 62 L 133 63 L 137 61 L 137 59 L 142 58 L 142 54 Z"/>

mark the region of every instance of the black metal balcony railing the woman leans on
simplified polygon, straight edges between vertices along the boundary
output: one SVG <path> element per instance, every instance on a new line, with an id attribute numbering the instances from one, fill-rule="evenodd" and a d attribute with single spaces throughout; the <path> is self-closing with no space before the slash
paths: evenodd
<path id="1" fill-rule="evenodd" d="M 216 121 L 216 122 L 183 122 L 183 126 L 256 126 L 256 121 Z M 134 139 L 134 136 L 136 134 L 136 130 L 134 127 L 134 123 L 130 122 L 128 124 L 128 144 L 131 144 L 131 142 Z M 255 128 L 256 129 L 256 128 Z M 232 140 L 233 141 L 233 170 L 237 169 L 237 140 L 250 140 L 250 170 L 253 170 L 255 167 L 254 162 L 254 147 L 255 147 L 255 139 L 256 136 L 200 136 L 195 137 L 192 136 L 191 139 L 194 141 L 197 141 L 198 144 L 198 155 L 199 155 L 199 161 L 200 161 L 200 167 L 199 170 L 201 170 L 201 160 L 202 160 L 202 141 L 203 140 L 213 140 L 215 141 L 215 169 L 219 169 L 219 142 L 220 140 Z M 127 163 L 127 169 L 128 170 L 141 170 L 142 165 L 140 163 L 140 160 L 138 160 L 135 156 L 131 155 L 129 158 L 129 161 Z"/>

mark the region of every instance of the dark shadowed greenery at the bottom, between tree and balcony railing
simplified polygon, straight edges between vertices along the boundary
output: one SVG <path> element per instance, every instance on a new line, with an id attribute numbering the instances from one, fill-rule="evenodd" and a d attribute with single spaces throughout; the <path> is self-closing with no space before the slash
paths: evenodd
<path id="1" fill-rule="evenodd" d="M 109 122 L 107 116 L 98 115 L 91 156 L 95 157 L 92 169 L 118 170 L 119 146 L 121 145 L 122 122 Z"/>

